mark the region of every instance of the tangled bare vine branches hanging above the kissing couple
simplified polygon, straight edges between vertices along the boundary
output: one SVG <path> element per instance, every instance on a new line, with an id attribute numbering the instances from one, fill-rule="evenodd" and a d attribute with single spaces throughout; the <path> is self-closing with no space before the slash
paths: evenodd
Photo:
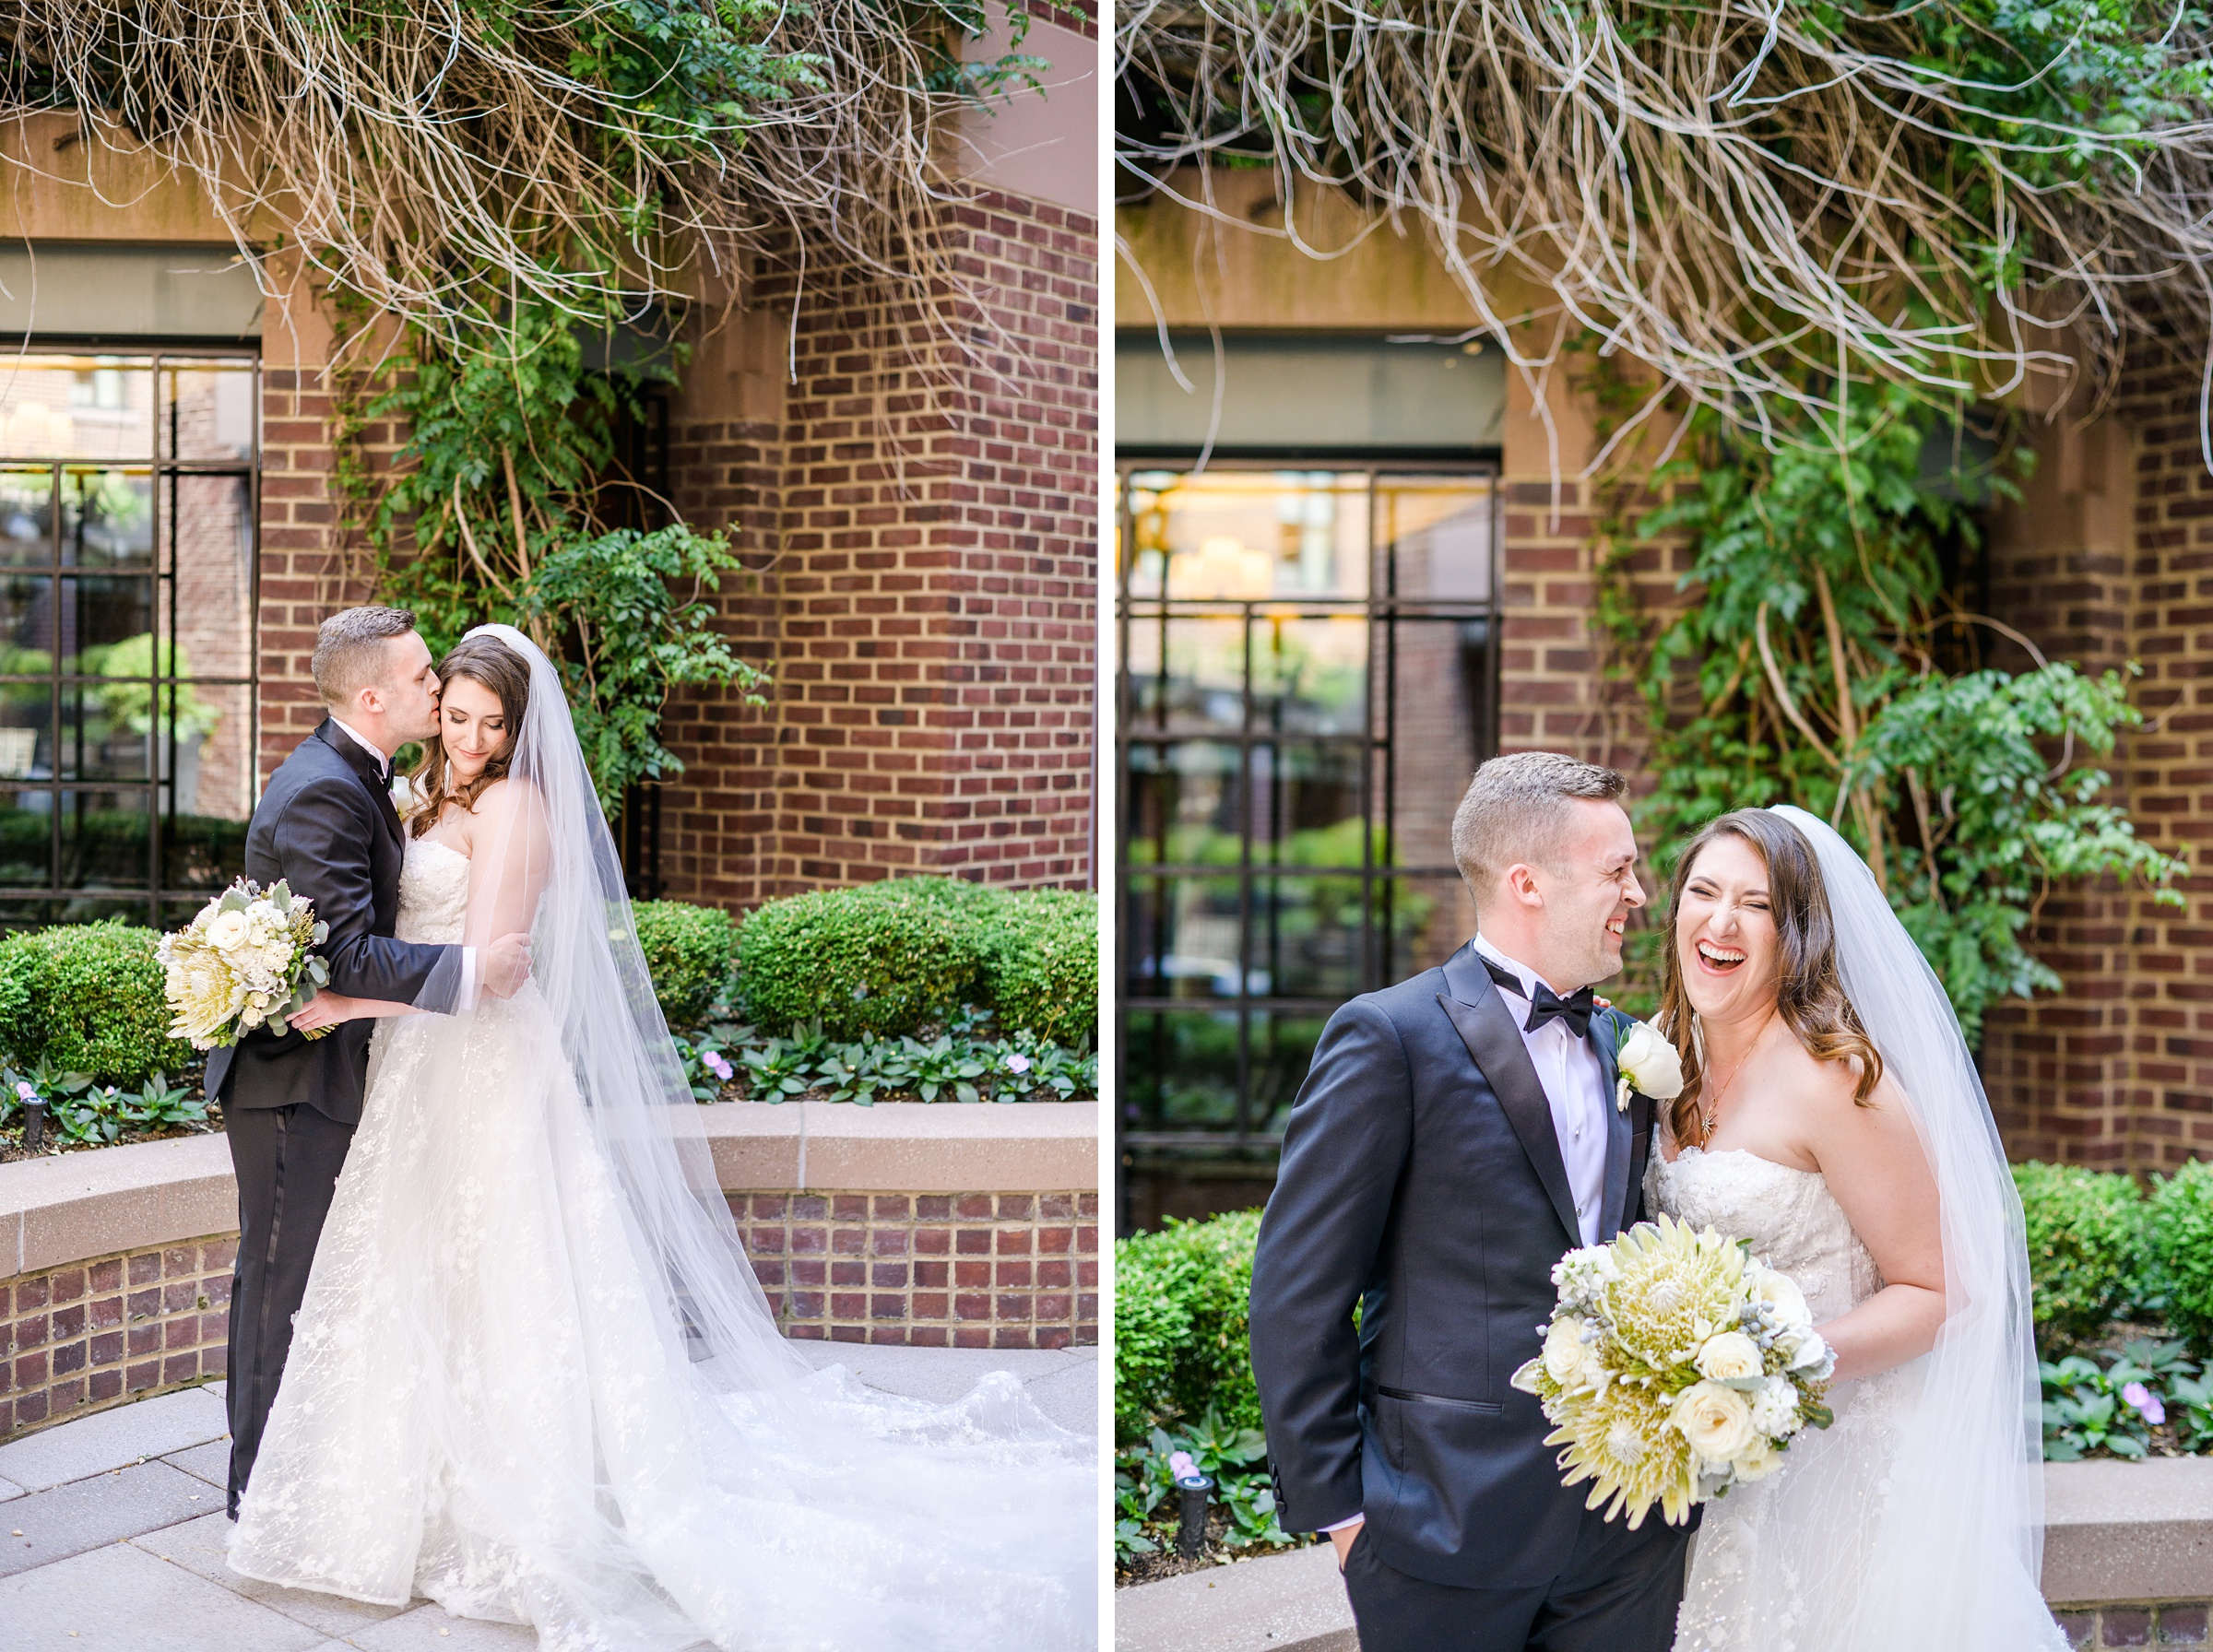
<path id="1" fill-rule="evenodd" d="M 704 18 L 739 11 L 757 84 L 679 124 L 655 113 L 664 86 L 573 73 L 620 7 L 18 0 L 0 119 L 75 108 L 86 142 L 193 175 L 257 270 L 281 239 L 449 338 L 520 294 L 637 318 L 697 296 L 695 265 L 735 290 L 761 252 L 801 279 L 859 276 L 892 325 L 974 354 L 952 307 L 985 307 L 941 245 L 960 190 L 938 164 L 969 100 L 929 88 L 929 29 L 854 0 L 702 0 Z"/>

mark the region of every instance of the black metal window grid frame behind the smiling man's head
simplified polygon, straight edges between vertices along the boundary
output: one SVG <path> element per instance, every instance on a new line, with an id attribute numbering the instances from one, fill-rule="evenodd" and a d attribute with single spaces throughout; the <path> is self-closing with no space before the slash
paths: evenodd
<path id="1" fill-rule="evenodd" d="M 1361 834 L 1361 911 L 1363 933 L 1361 933 L 1361 986 L 1359 991 L 1376 991 L 1394 980 L 1392 960 L 1392 922 L 1390 922 L 1390 898 L 1399 880 L 1407 878 L 1458 878 L 1456 867 L 1401 867 L 1401 865 L 1379 865 L 1374 856 L 1376 827 L 1383 827 L 1385 843 L 1396 843 L 1390 818 L 1390 798 L 1394 796 L 1396 781 L 1396 639 L 1399 624 L 1403 619 L 1419 621 L 1441 621 L 1441 619 L 1480 619 L 1489 628 L 1487 663 L 1480 683 L 1480 703 L 1474 708 L 1478 743 L 1476 756 L 1487 756 L 1498 745 L 1498 683 L 1500 683 L 1500 648 L 1498 648 L 1498 626 L 1505 613 L 1505 588 L 1503 588 L 1503 513 L 1500 513 L 1500 464 L 1492 456 L 1469 456 L 1465 449 L 1452 456 L 1416 456 L 1416 453 L 1359 453 L 1359 451 L 1299 451 L 1299 453 L 1230 453 L 1208 458 L 1206 471 L 1334 471 L 1339 475 L 1365 475 L 1370 480 L 1368 491 L 1368 557 L 1370 557 L 1370 588 L 1365 597 L 1246 597 L 1246 599 L 1222 599 L 1222 597 L 1133 597 L 1131 595 L 1131 573 L 1135 566 L 1135 524 L 1131 515 L 1131 478 L 1140 473 L 1157 471 L 1182 471 L 1191 473 L 1197 462 L 1195 451 L 1173 453 L 1173 451 L 1137 451 L 1122 453 L 1115 471 L 1115 796 L 1120 798 L 1118 820 L 1115 820 L 1115 893 L 1122 905 L 1122 922 L 1115 927 L 1118 935 L 1118 960 L 1115 980 L 1120 991 L 1115 993 L 1115 1015 L 1122 1050 L 1120 1062 L 1120 1086 L 1122 1097 L 1122 1128 L 1118 1130 L 1118 1146 L 1129 1152 L 1144 1154 L 1149 1150 L 1180 1150 L 1180 1152 L 1215 1152 L 1226 1157 L 1250 1157 L 1255 1150 L 1268 1152 L 1281 1146 L 1279 1132 L 1264 1132 L 1259 1121 L 1253 1119 L 1253 1017 L 1255 1013 L 1292 1013 L 1292 1015 L 1330 1015 L 1337 1011 L 1346 997 L 1299 997 L 1299 995 L 1275 995 L 1253 993 L 1253 887 L 1255 876 L 1277 876 L 1277 874 L 1326 874 L 1326 876 L 1354 876 L 1350 867 L 1292 867 L 1268 862 L 1255 867 L 1253 845 L 1255 845 L 1255 807 L 1253 787 L 1241 787 L 1239 801 L 1239 860 L 1237 867 L 1219 865 L 1175 865 L 1175 862 L 1142 862 L 1131 860 L 1131 825 L 1133 825 L 1133 783 L 1131 783 L 1131 752 L 1140 745 L 1155 745 L 1166 750 L 1177 743 L 1193 739 L 1206 739 L 1213 743 L 1230 745 L 1235 743 L 1244 772 L 1250 774 L 1250 754 L 1255 745 L 1277 743 L 1279 732 L 1255 728 L 1255 694 L 1253 694 L 1253 626 L 1255 617 L 1323 617 L 1323 615 L 1346 615 L 1363 613 L 1368 619 L 1368 670 L 1370 683 L 1381 681 L 1381 708 L 1370 697 L 1365 705 L 1365 728 L 1352 736 L 1339 736 L 1341 741 L 1357 743 L 1363 752 L 1359 763 L 1361 774 L 1361 818 L 1365 832 Z M 1376 480 L 1388 478 L 1441 478 L 1441 475 L 1465 475 L 1485 478 L 1492 482 L 1492 533 L 1489 533 L 1489 597 L 1487 599 L 1436 599 L 1436 597 L 1412 597 L 1401 599 L 1394 579 L 1383 582 L 1379 590 L 1376 564 L 1381 544 L 1376 542 Z M 1151 732 L 1142 719 L 1135 679 L 1131 675 L 1131 630 L 1137 624 L 1160 624 L 1166 626 L 1173 617 L 1224 617 L 1228 613 L 1241 613 L 1244 617 L 1244 719 L 1235 734 L 1168 734 L 1166 732 L 1166 705 L 1162 699 L 1162 719 L 1157 723 L 1160 732 Z M 1376 650 L 1381 646 L 1381 672 L 1376 670 Z M 1166 648 L 1157 650 L 1162 661 L 1162 672 L 1166 675 Z M 1381 712 L 1381 717 L 1379 717 Z M 1308 736 L 1301 736 L 1308 739 Z M 1237 993 L 1222 997 L 1175 997 L 1166 993 L 1142 993 L 1137 991 L 1140 980 L 1131 955 L 1133 935 L 1140 933 L 1140 924 L 1133 922 L 1133 898 L 1137 880 L 1151 880 L 1157 885 L 1168 885 L 1177 878 L 1222 878 L 1235 871 L 1239 880 L 1239 958 L 1237 958 Z M 1381 889 L 1381 900 L 1379 900 Z M 1379 922 L 1381 918 L 1381 922 Z M 1270 980 L 1270 989 L 1275 982 Z M 1129 1086 L 1133 1070 L 1137 1066 L 1137 1042 L 1133 1035 L 1133 1017 L 1157 1015 L 1157 1013 L 1191 1013 L 1191 1011 L 1222 1011 L 1237 1015 L 1237 1121 L 1233 1130 L 1149 1130 L 1142 1121 L 1133 1117 L 1129 1108 Z"/>

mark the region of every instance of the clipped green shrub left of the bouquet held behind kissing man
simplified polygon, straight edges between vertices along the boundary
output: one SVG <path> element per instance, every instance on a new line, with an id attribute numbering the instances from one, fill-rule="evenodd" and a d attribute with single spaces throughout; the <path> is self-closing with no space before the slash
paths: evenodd
<path id="1" fill-rule="evenodd" d="M 120 920 L 0 940 L 0 1042 L 18 1062 L 142 1084 L 197 1057 L 168 1035 L 159 935 Z"/>

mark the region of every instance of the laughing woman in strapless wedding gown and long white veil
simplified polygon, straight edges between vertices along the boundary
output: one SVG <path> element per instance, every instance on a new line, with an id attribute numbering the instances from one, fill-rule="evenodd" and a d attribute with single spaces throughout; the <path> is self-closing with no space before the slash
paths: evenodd
<path id="1" fill-rule="evenodd" d="M 1708 825 L 1671 922 L 1646 1199 L 1748 1238 L 1837 1351 L 1835 1426 L 1706 1504 L 1675 1652 L 2058 1652 L 2020 1201 L 1943 989 L 1804 809 Z"/>

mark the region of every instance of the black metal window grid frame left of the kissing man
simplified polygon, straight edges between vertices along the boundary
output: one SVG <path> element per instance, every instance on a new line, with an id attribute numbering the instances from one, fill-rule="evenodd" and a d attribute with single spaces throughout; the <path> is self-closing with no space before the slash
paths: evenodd
<path id="1" fill-rule="evenodd" d="M 9 778 L 4 785 L 9 792 L 38 794 L 44 792 L 49 798 L 46 814 L 51 818 L 49 836 L 49 862 L 46 882 L 13 882 L 0 887 L 0 902 L 9 907 L 31 907 L 38 902 L 46 905 L 46 916 L 60 916 L 64 907 L 82 907 L 93 902 L 102 909 L 115 909 L 126 905 L 146 907 L 146 922 L 162 929 L 170 918 L 177 916 L 179 907 L 197 907 L 208 898 L 208 889 L 181 889 L 164 887 L 164 871 L 168 869 L 170 849 L 170 827 L 175 820 L 175 794 L 177 794 L 177 690 L 179 688 L 243 688 L 246 690 L 246 750 L 248 750 L 248 785 L 252 801 L 261 796 L 261 389 L 263 389 L 263 367 L 259 345 L 228 343 L 190 343 L 179 338 L 164 338 L 159 343 L 133 343 L 133 341 L 77 341 L 77 338 L 46 338 L 33 336 L 24 343 L 22 358 L 35 356 L 115 356 L 135 363 L 148 363 L 153 376 L 153 451 L 131 458 L 53 458 L 53 456 L 31 456 L 13 458 L 0 447 L 0 469 L 9 471 L 35 471 L 46 469 L 51 473 L 53 493 L 49 495 L 49 557 L 44 564 L 15 564 L 9 566 L 9 575 L 44 577 L 53 582 L 55 602 L 60 604 L 62 579 L 69 575 L 82 575 L 80 564 L 64 560 L 64 526 L 62 526 L 62 475 L 66 471 L 128 471 L 146 469 L 153 473 L 153 502 L 150 502 L 150 535 L 153 535 L 153 566 L 144 577 L 153 586 L 153 615 L 155 626 L 162 626 L 162 615 L 166 608 L 166 637 L 168 644 L 168 670 L 162 670 L 162 648 L 155 648 L 150 661 L 153 675 L 146 679 L 146 708 L 148 708 L 148 732 L 146 732 L 146 776 L 144 778 L 86 778 L 86 776 L 64 776 L 60 761 L 51 765 L 51 774 L 44 781 L 38 778 Z M 237 360 L 252 369 L 252 416 L 254 416 L 254 442 L 250 460 L 179 460 L 177 451 L 177 429 L 175 429 L 175 405 L 170 405 L 170 429 L 162 431 L 162 374 L 168 365 L 181 363 L 208 363 L 208 360 Z M 177 602 L 177 546 L 173 540 L 164 540 L 164 531 L 177 511 L 177 480 L 186 475 L 212 475 L 212 478 L 239 478 L 246 482 L 246 511 L 248 511 L 248 553 L 246 553 L 246 661 L 248 672 L 243 677 L 204 675 L 188 672 L 177 675 L 177 628 L 179 628 L 179 602 Z M 124 571 L 131 573 L 131 571 Z M 168 602 L 164 604 L 164 586 Z M 55 617 L 60 626 L 60 615 Z M 60 639 L 58 639 L 60 641 Z M 91 688 L 113 688 L 111 677 L 89 677 L 84 672 L 64 672 L 62 648 L 51 650 L 51 666 L 42 675 L 4 675 L 0 672 L 0 683 L 7 686 L 49 686 L 49 712 L 46 728 L 53 739 L 62 739 L 64 708 L 62 692 L 66 688 L 91 690 Z M 168 701 L 168 714 L 162 714 L 164 697 Z M 155 743 L 166 739 L 168 750 L 157 750 Z M 66 882 L 64 867 L 66 856 L 62 851 L 62 798 L 64 794 L 77 796 L 77 807 L 86 794 L 139 794 L 146 801 L 146 882 L 144 885 L 120 885 L 120 882 Z"/>

